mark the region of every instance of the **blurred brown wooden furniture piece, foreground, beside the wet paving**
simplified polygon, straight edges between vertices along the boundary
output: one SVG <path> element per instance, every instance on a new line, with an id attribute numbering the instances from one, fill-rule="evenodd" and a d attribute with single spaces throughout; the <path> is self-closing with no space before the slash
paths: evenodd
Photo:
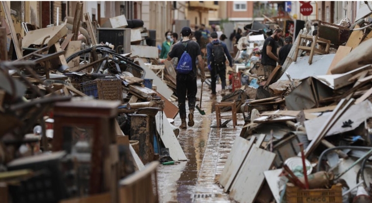
<path id="1" fill-rule="evenodd" d="M 145 165 L 142 171 L 120 181 L 120 203 L 158 203 L 158 161 L 152 161 Z"/>

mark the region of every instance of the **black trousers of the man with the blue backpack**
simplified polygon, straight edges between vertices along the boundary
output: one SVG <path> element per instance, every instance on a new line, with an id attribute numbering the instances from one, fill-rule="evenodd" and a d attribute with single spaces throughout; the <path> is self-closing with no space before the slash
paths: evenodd
<path id="1" fill-rule="evenodd" d="M 194 74 L 177 74 L 177 96 L 178 96 L 178 109 L 179 117 L 186 118 L 186 95 L 189 101 L 189 110 L 195 109 L 196 92 L 196 75 Z"/>

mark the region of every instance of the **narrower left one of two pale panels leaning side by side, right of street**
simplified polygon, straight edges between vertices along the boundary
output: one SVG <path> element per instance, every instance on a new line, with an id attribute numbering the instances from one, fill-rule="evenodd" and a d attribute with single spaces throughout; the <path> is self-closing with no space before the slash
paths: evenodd
<path id="1" fill-rule="evenodd" d="M 247 141 L 241 137 L 236 137 L 234 145 L 229 153 L 229 157 L 225 163 L 224 170 L 222 171 L 219 179 L 220 184 L 224 186 L 224 192 L 228 192 L 230 190 L 231 183 L 234 182 L 241 164 L 248 155 L 253 143 L 255 142 L 255 139 L 256 137 L 254 136 L 252 136 L 250 141 Z"/>

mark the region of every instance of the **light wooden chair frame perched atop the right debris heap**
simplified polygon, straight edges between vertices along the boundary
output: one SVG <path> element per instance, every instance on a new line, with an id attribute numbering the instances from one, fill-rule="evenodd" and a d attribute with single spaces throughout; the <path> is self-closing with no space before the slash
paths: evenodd
<path id="1" fill-rule="evenodd" d="M 308 35 L 300 35 L 299 37 L 300 37 L 299 41 L 301 41 L 301 39 L 304 39 L 305 41 L 309 40 L 309 41 L 312 41 L 313 43 L 311 47 L 300 46 L 300 43 L 298 43 L 296 47 L 295 57 L 293 59 L 294 62 L 297 61 L 297 56 L 298 56 L 298 52 L 300 49 L 304 51 L 310 51 L 310 55 L 308 58 L 309 64 L 312 64 L 314 54 L 328 54 L 329 47 L 331 45 L 330 40 L 326 40 L 318 36 L 308 36 Z M 316 48 L 317 44 L 326 44 L 325 50 Z"/>

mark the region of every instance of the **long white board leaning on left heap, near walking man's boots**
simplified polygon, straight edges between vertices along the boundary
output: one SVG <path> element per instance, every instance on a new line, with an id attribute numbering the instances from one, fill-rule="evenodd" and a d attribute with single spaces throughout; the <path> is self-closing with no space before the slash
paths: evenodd
<path id="1" fill-rule="evenodd" d="M 170 157 L 173 160 L 187 160 L 187 157 L 184 154 L 164 111 L 158 112 L 155 118 L 158 133 L 160 134 L 160 138 L 165 147 L 169 148 Z"/>

